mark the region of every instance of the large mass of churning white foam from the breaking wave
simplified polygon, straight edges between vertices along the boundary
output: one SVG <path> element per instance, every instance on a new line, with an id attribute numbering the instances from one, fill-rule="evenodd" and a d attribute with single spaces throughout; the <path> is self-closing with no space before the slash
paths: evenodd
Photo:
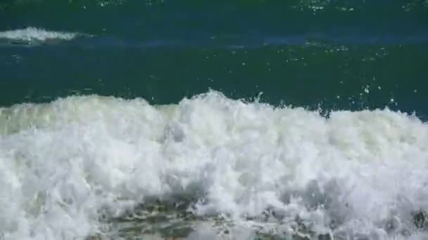
<path id="1" fill-rule="evenodd" d="M 428 209 L 428 126 L 388 109 L 325 119 L 216 92 L 168 106 L 70 97 L 0 109 L 0 134 L 0 239 L 94 234 L 101 208 L 195 189 L 194 213 L 229 216 L 237 239 L 289 234 L 296 218 L 319 233 L 428 237 L 412 218 Z M 189 239 L 215 239 L 207 229 Z"/>

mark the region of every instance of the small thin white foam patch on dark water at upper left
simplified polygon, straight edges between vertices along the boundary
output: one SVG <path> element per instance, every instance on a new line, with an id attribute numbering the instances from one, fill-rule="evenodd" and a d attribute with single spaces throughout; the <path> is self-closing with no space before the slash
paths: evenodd
<path id="1" fill-rule="evenodd" d="M 53 32 L 36 27 L 15 29 L 0 32 L 0 39 L 22 40 L 22 41 L 46 41 L 46 40 L 71 40 L 78 34 L 72 32 Z"/>

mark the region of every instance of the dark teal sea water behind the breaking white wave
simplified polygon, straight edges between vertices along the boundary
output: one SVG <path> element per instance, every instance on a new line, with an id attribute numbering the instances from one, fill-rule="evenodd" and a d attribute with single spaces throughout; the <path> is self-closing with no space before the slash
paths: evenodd
<path id="1" fill-rule="evenodd" d="M 71 94 L 156 104 L 221 91 L 323 109 L 428 113 L 427 1 L 4 1 L 0 105 Z M 365 88 L 369 91 L 365 91 Z M 394 99 L 394 100 L 393 100 Z"/>

